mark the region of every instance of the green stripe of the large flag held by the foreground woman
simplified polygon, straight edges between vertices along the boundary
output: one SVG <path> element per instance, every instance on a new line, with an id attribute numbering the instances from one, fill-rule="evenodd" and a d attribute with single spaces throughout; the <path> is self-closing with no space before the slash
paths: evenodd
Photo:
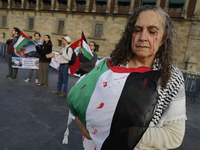
<path id="1" fill-rule="evenodd" d="M 69 108 L 72 114 L 81 120 L 86 127 L 86 111 L 90 98 L 95 90 L 96 83 L 99 77 L 109 68 L 107 66 L 107 59 L 99 63 L 90 73 L 88 73 L 81 81 L 72 87 L 67 96 Z M 83 100 L 79 100 L 83 97 Z M 78 101 L 79 100 L 79 101 Z M 80 113 L 83 112 L 83 113 Z M 79 115 L 80 114 L 80 115 Z"/>

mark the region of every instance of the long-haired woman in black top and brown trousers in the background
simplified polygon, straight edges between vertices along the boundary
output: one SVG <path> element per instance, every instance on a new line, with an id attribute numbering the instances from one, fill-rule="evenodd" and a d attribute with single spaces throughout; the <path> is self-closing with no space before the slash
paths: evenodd
<path id="1" fill-rule="evenodd" d="M 51 53 L 53 47 L 50 36 L 47 34 L 44 36 L 42 46 L 39 46 L 37 43 L 35 43 L 35 45 L 36 50 L 40 55 L 38 71 L 39 83 L 37 85 L 42 85 L 43 87 L 46 87 L 48 86 L 49 64 L 51 62 L 51 58 L 47 58 L 46 54 Z"/>

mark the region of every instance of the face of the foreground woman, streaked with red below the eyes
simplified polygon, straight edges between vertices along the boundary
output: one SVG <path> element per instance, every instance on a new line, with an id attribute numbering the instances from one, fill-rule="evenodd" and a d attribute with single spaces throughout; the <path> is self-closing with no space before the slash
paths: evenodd
<path id="1" fill-rule="evenodd" d="M 155 57 L 163 44 L 163 18 L 159 12 L 141 12 L 134 26 L 131 48 L 136 57 Z"/>

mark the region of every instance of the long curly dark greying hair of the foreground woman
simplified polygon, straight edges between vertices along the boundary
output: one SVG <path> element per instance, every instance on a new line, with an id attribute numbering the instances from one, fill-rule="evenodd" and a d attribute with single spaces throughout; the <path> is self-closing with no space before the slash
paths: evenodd
<path id="1" fill-rule="evenodd" d="M 175 30 L 169 15 L 161 7 L 144 5 L 134 11 L 127 22 L 125 31 L 122 33 L 119 43 L 116 44 L 115 50 L 113 50 L 110 55 L 110 60 L 112 66 L 126 65 L 130 59 L 134 57 L 131 49 L 131 41 L 135 23 L 141 12 L 150 10 L 159 12 L 163 16 L 163 44 L 159 47 L 155 58 L 158 58 L 158 63 L 161 67 L 161 87 L 165 88 L 172 71 L 173 34 L 175 33 Z"/>

